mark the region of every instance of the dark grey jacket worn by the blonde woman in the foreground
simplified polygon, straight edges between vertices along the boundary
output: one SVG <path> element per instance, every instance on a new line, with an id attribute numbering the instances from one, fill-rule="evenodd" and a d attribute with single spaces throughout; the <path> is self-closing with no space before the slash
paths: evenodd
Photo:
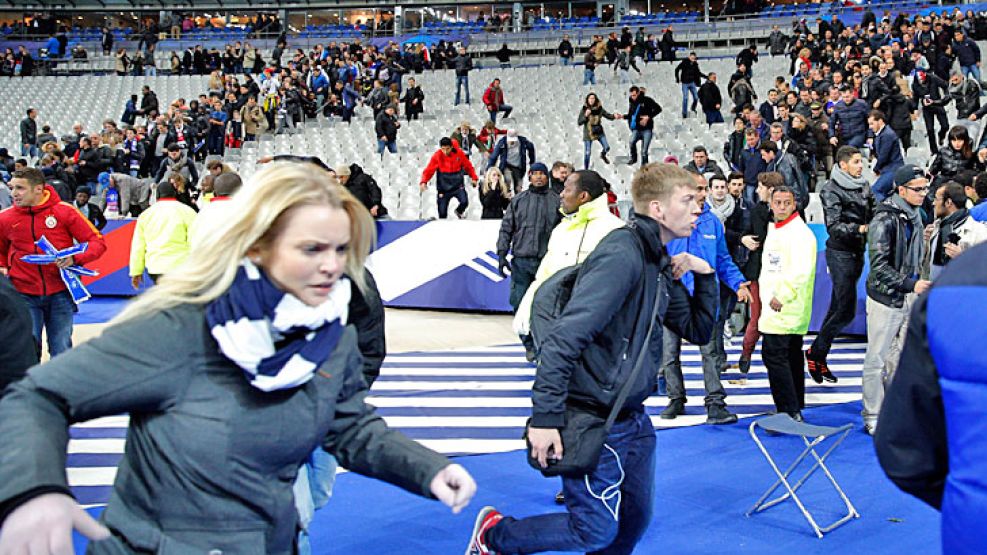
<path id="1" fill-rule="evenodd" d="M 101 517 L 114 535 L 89 553 L 291 553 L 292 484 L 316 446 L 425 496 L 449 464 L 388 429 L 366 395 L 352 327 L 311 381 L 265 393 L 220 353 L 202 306 L 111 326 L 31 369 L 0 401 L 0 441 L 18 445 L 0 451 L 0 518 L 38 493 L 68 491 L 69 424 L 129 412 Z"/>

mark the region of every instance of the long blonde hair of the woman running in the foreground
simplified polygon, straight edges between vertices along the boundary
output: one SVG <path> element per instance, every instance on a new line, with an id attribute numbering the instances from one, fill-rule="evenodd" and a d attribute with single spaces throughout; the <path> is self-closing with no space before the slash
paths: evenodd
<path id="1" fill-rule="evenodd" d="M 308 163 L 275 163 L 255 173 L 229 201 L 226 217 L 208 224 L 209 240 L 137 297 L 113 323 L 182 304 L 206 304 L 230 288 L 251 248 L 270 245 L 302 206 L 329 205 L 350 218 L 345 273 L 365 289 L 363 265 L 376 240 L 373 218 L 332 175 Z"/>

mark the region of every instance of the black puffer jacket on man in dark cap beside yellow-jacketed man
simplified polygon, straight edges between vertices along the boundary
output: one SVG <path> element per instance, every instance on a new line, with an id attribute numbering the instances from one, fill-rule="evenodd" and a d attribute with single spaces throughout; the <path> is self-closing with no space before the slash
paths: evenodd
<path id="1" fill-rule="evenodd" d="M 561 220 L 559 195 L 548 185 L 530 187 L 511 199 L 504 213 L 497 254 L 506 256 L 510 251 L 515 257 L 541 259 L 552 230 Z"/>

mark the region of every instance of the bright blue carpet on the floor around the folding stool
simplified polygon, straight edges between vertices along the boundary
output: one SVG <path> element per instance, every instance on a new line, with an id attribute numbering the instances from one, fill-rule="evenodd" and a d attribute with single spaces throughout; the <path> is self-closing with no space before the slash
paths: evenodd
<path id="1" fill-rule="evenodd" d="M 813 424 L 838 425 L 859 421 L 859 411 L 859 403 L 848 403 L 810 409 L 806 418 Z M 768 438 L 766 444 L 784 466 L 799 451 L 797 441 Z M 332 500 L 313 522 L 314 552 L 458 555 L 465 550 L 476 511 L 484 505 L 518 517 L 558 510 L 553 502 L 558 482 L 531 470 L 521 452 L 458 461 L 480 487 L 460 515 L 388 484 L 340 475 Z M 885 478 L 871 438 L 859 426 L 829 459 L 829 466 L 861 518 L 819 540 L 792 503 L 744 516 L 773 477 L 746 424 L 662 430 L 655 518 L 636 553 L 939 553 L 938 513 Z M 828 523 L 839 516 L 843 505 L 821 473 L 801 495 L 818 521 Z M 77 538 L 80 553 L 83 546 Z"/>

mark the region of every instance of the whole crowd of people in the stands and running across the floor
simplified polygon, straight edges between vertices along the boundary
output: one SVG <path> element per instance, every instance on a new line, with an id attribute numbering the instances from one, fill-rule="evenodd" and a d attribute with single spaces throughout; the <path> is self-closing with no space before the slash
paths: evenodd
<path id="1" fill-rule="evenodd" d="M 714 145 L 695 145 L 681 167 L 674 159 L 650 163 L 662 108 L 642 87 L 629 88 L 626 112 L 608 111 L 587 94 L 575 121 L 584 169 L 575 170 L 564 160 L 549 167 L 516 129 L 497 128 L 497 117 L 515 108 L 499 80 L 490 83 L 482 95 L 489 120 L 479 133 L 463 122 L 442 137 L 420 188 L 434 179 L 439 217 L 449 216 L 455 199 L 462 218 L 466 187 L 477 186 L 483 217 L 501 220 L 498 271 L 510 274 L 514 328 L 537 365 L 526 429 L 531 464 L 549 472 L 575 456 L 562 443 L 580 421 L 574 415 L 603 421 L 612 414 L 613 426 L 592 464 L 563 474 L 556 499 L 565 512 L 515 519 L 484 508 L 469 553 L 633 550 L 654 505 L 655 438 L 643 403 L 662 391 L 668 404 L 660 417 L 685 414 L 682 340 L 700 346 L 707 424 L 737 421 L 722 380 L 746 385 L 759 340 L 777 412 L 803 422 L 806 373 L 817 384 L 839 382 L 827 359 L 857 315 L 861 278 L 868 330 L 863 429 L 877 436 L 882 464 L 904 489 L 942 503 L 942 479 L 916 485 L 926 468 L 888 447 L 921 446 L 897 423 L 886 429 L 880 416 L 886 391 L 900 408 L 909 398 L 895 388 L 928 388 L 927 371 L 922 383 L 914 375 L 896 378 L 903 350 L 923 352 L 925 338 L 914 334 L 926 313 L 911 321 L 913 307 L 941 318 L 926 304 L 930 292 L 940 280 L 955 283 L 953 268 L 969 268 L 976 255 L 967 253 L 987 242 L 987 140 L 978 140 L 987 108 L 980 51 L 970 38 L 976 32 L 962 14 L 865 17 L 855 27 L 834 18 L 815 32 L 799 22 L 792 36 L 776 30 L 769 39 L 770 55 L 791 56 L 791 77 L 755 91 L 760 55 L 751 45 L 736 58 L 726 95 L 690 54 L 675 70 L 681 115 L 701 107 L 710 126 L 725 125 L 730 100 L 734 119 L 722 162 L 711 156 Z M 587 84 L 597 63 L 627 72 L 649 57 L 653 37 L 630 36 L 623 45 L 625 35 L 628 29 L 620 38 L 594 39 Z M 566 42 L 559 55 L 572 58 Z M 28 108 L 22 158 L 0 151 L 9 174 L 0 186 L 0 294 L 16 307 L 4 313 L 3 329 L 19 345 L 0 356 L 0 388 L 12 384 L 0 401 L 0 437 L 26 442 L 0 453 L 0 550 L 38 537 L 61 545 L 72 526 L 108 549 L 142 549 L 150 525 L 189 549 L 237 552 L 262 541 L 267 552 L 305 552 L 311 511 L 325 502 L 337 459 L 455 511 L 473 496 L 465 470 L 388 430 L 364 402 L 385 345 L 383 306 L 363 267 L 373 219 L 388 215 L 380 186 L 358 164 L 330 168 L 318 158 L 285 155 L 259 160 L 272 164 L 241 184 L 222 161 L 225 149 L 288 131 L 305 117 L 349 121 L 358 103 L 374 113 L 378 154 L 394 152 L 401 104 L 413 119 L 425 98 L 413 78 L 403 79 L 417 71 L 406 64 L 409 51 L 364 48 L 357 40 L 298 50 L 283 64 L 280 55 L 250 64 L 249 51 L 231 45 L 228 56 L 214 58 L 191 48 L 179 67 L 210 71 L 208 91 L 164 107 L 144 87 L 119 124 L 108 119 L 95 132 L 76 125 L 59 138 L 45 125 L 39 130 L 37 110 Z M 456 102 L 465 89 L 469 103 L 469 56 L 460 49 L 446 63 L 456 72 Z M 957 111 L 951 127 L 950 103 Z M 928 167 L 906 163 L 919 111 L 936 152 Z M 610 184 L 589 169 L 593 143 L 610 162 L 604 120 L 627 121 L 630 164 L 641 162 L 627 220 Z M 470 159 L 474 150 L 483 153 L 480 171 Z M 865 178 L 868 158 L 873 182 Z M 204 163 L 201 178 L 197 163 Z M 819 253 L 805 220 L 814 198 L 828 235 L 832 289 L 818 335 L 804 349 L 816 306 Z M 99 231 L 104 212 L 137 218 L 131 283 L 144 287 L 146 275 L 153 286 L 101 338 L 73 349 L 72 315 L 84 292 L 78 276 L 107 248 Z M 37 229 L 47 230 L 49 245 L 38 241 Z M 743 336 L 736 361 L 727 357 L 728 329 Z M 23 378 L 40 360 L 43 332 L 53 358 Z M 158 340 L 135 352 L 132 345 L 148 336 Z M 184 379 L 162 378 L 163 367 Z M 923 408 L 941 422 L 941 406 Z M 131 441 L 104 528 L 67 495 L 57 468 L 60 439 L 73 422 L 127 411 Z M 315 425 L 306 416 L 323 413 L 329 416 Z M 271 422 L 295 425 L 287 435 L 264 433 Z M 213 487 L 200 487 L 193 470 L 215 459 L 215 442 L 230 426 L 240 431 L 227 457 L 244 461 L 243 469 L 217 468 Z M 276 449 L 272 437 L 280 438 Z M 942 461 L 934 462 L 944 478 Z M 160 479 L 139 479 L 149 475 Z M 197 492 L 193 502 L 178 495 L 186 491 Z M 217 515 L 253 522 L 259 511 L 263 533 L 217 538 L 172 529 L 157 520 L 158 505 L 208 530 L 209 523 L 220 526 Z"/>

